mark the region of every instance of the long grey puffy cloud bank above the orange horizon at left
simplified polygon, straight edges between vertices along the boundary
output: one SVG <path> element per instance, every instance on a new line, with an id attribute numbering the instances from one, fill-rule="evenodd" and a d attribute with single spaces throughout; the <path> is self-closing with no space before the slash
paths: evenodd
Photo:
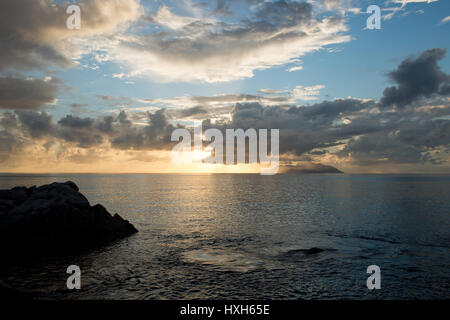
<path id="1" fill-rule="evenodd" d="M 105 142 L 122 150 L 167 149 L 175 127 L 166 118 L 164 110 L 147 114 L 147 125 L 135 125 L 122 111 L 116 116 L 97 119 L 67 115 L 55 122 L 46 112 L 5 113 L 0 118 L 4 129 L 18 123 L 21 134 L 34 140 L 59 139 L 79 148 L 90 148 Z"/>

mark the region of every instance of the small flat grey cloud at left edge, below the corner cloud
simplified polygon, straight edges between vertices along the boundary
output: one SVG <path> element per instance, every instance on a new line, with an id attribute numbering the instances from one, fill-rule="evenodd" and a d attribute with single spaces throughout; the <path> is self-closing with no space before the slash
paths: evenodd
<path id="1" fill-rule="evenodd" d="M 1 50 L 0 50 L 1 51 Z M 0 78 L 0 109 L 31 110 L 55 101 L 58 79 Z"/>

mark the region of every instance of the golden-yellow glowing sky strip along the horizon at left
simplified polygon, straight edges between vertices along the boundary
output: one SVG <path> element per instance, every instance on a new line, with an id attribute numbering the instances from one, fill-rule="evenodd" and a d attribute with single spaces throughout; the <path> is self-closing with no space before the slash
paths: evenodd
<path id="1" fill-rule="evenodd" d="M 260 173 L 259 164 L 209 164 L 200 160 L 205 154 L 192 152 L 196 161 L 174 164 L 170 151 L 111 151 L 97 149 L 88 152 L 65 150 L 64 157 L 55 153 L 43 152 L 38 148 L 29 150 L 17 163 L 2 169 L 11 173 Z M 36 157 L 38 155 L 38 157 Z"/>

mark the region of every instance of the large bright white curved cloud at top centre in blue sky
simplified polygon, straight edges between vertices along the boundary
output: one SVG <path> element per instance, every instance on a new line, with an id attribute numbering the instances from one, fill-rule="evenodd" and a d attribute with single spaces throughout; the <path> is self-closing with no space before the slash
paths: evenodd
<path id="1" fill-rule="evenodd" d="M 249 6 L 245 1 L 241 6 Z M 342 17 L 313 17 L 312 5 L 258 2 L 246 19 L 197 19 L 163 7 L 148 18 L 160 32 L 129 34 L 104 42 L 108 59 L 130 75 L 162 82 L 224 82 L 253 77 L 256 70 L 292 63 L 299 56 L 350 37 Z M 241 7 L 242 10 L 242 7 Z M 169 23 L 170 21 L 170 23 Z M 172 25 L 175 24 L 175 25 Z M 153 30 L 152 29 L 152 30 Z"/>

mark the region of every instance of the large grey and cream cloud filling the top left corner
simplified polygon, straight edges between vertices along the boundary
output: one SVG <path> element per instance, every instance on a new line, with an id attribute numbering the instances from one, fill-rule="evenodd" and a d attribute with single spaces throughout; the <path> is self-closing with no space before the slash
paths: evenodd
<path id="1" fill-rule="evenodd" d="M 84 0 L 82 27 L 66 27 L 66 4 L 52 0 L 2 0 L 0 10 L 0 72 L 43 70 L 74 66 L 79 57 L 79 41 L 114 33 L 140 16 L 138 0 Z"/>

